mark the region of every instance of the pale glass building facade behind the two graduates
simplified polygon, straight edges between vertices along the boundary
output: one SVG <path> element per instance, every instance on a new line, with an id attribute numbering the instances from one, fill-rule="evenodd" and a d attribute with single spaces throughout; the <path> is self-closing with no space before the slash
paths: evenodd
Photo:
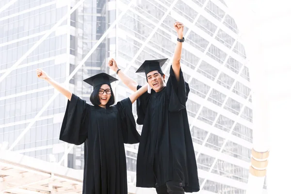
<path id="1" fill-rule="evenodd" d="M 0 7 L 9 0 L 0 0 Z M 67 1 L 68 2 L 68 1 Z M 76 2 L 18 0 L 0 13 L 0 76 Z M 70 147 L 59 140 L 66 99 L 54 95 L 46 81 L 36 77 L 42 68 L 63 83 L 110 25 L 127 9 L 130 0 L 85 0 L 71 16 L 50 33 L 28 57 L 0 82 L 0 143 L 9 146 L 23 134 L 13 151 L 62 165 L 83 169 L 83 146 Z M 187 113 L 203 191 L 244 194 L 252 148 L 252 100 L 248 64 L 239 30 L 227 14 L 223 0 L 134 0 L 117 25 L 65 84 L 90 103 L 92 87 L 82 80 L 99 72 L 113 74 L 108 58 L 139 84 L 146 82 L 135 71 L 144 60 L 171 58 L 176 46 L 175 21 L 184 23 L 182 71 L 191 92 Z M 169 74 L 171 60 L 163 71 Z M 113 74 L 114 75 L 114 74 Z M 114 75 L 115 76 L 115 75 Z M 118 77 L 117 77 L 118 78 Z M 167 78 L 166 78 L 167 79 Z M 113 85 L 117 100 L 131 93 L 121 82 Z M 133 104 L 134 115 L 135 104 Z M 142 127 L 138 126 L 141 131 Z M 138 145 L 126 145 L 127 167 L 134 184 Z"/>

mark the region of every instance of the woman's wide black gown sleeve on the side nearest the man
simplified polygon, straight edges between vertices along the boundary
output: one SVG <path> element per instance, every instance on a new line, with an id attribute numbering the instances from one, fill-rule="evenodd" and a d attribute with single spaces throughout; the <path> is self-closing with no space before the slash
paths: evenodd
<path id="1" fill-rule="evenodd" d="M 136 130 L 136 124 L 132 114 L 132 103 L 129 97 L 117 102 L 116 106 L 121 116 L 121 132 L 124 143 L 139 143 L 140 134 Z"/>

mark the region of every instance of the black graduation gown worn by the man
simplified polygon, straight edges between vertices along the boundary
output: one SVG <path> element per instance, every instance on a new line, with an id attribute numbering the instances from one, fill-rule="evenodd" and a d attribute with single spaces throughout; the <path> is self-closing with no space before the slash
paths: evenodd
<path id="1" fill-rule="evenodd" d="M 141 86 L 138 86 L 138 89 Z M 136 186 L 156 187 L 169 180 L 182 182 L 185 192 L 198 192 L 199 181 L 186 101 L 190 92 L 180 70 L 166 87 L 137 100 L 137 124 L 144 125 L 137 155 Z"/>

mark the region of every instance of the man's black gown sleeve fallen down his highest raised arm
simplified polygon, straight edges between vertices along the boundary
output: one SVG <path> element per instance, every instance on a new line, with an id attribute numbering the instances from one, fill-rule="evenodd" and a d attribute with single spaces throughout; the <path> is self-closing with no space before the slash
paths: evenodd
<path id="1" fill-rule="evenodd" d="M 189 84 L 184 81 L 182 70 L 180 69 L 179 81 L 177 81 L 171 65 L 170 77 L 167 81 L 167 96 L 169 98 L 169 112 L 178 112 L 186 108 L 186 101 L 190 92 Z"/>

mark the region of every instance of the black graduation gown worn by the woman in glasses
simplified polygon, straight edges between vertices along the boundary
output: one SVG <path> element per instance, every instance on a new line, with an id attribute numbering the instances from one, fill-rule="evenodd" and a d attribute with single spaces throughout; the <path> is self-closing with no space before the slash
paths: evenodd
<path id="1" fill-rule="evenodd" d="M 127 194 L 124 143 L 135 144 L 139 138 L 129 98 L 106 109 L 74 94 L 68 101 L 60 140 L 85 142 L 82 194 Z"/>

